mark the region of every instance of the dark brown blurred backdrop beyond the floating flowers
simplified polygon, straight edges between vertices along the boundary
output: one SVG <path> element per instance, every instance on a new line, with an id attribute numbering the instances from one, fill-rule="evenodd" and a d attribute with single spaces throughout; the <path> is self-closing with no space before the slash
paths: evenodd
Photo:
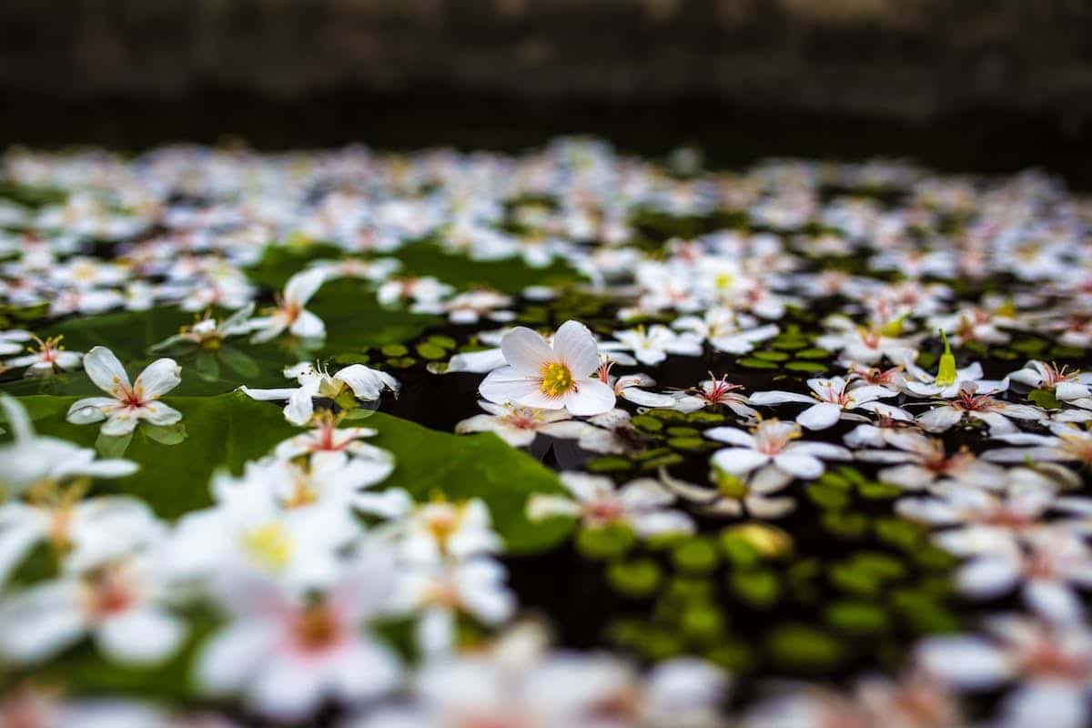
<path id="1" fill-rule="evenodd" d="M 910 155 L 1092 187 L 1088 0 L 3 0 L 0 143 Z"/>

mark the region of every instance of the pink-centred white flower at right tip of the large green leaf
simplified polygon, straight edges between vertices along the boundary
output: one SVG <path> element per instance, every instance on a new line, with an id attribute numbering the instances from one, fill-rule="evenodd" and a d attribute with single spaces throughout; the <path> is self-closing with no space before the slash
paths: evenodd
<path id="1" fill-rule="evenodd" d="M 690 516 L 668 508 L 675 502 L 675 496 L 652 478 L 631 480 L 615 488 L 610 478 L 562 473 L 561 485 L 572 498 L 536 493 L 527 501 L 527 518 L 573 517 L 585 528 L 625 525 L 641 537 L 696 530 Z"/>

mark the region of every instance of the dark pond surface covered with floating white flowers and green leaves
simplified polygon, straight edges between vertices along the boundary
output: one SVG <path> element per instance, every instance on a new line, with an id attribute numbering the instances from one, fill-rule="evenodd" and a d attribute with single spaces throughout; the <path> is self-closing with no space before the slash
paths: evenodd
<path id="1" fill-rule="evenodd" d="M 3 179 L 4 720 L 1090 719 L 1057 179 L 584 138 Z"/>

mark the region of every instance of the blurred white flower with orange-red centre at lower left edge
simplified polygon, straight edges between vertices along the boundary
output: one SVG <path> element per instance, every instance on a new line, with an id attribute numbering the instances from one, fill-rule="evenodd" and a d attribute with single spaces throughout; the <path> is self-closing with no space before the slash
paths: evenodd
<path id="1" fill-rule="evenodd" d="M 38 663 L 91 634 L 114 661 L 161 663 L 187 631 L 164 606 L 166 596 L 158 564 L 147 557 L 36 583 L 0 604 L 0 654 Z"/>

